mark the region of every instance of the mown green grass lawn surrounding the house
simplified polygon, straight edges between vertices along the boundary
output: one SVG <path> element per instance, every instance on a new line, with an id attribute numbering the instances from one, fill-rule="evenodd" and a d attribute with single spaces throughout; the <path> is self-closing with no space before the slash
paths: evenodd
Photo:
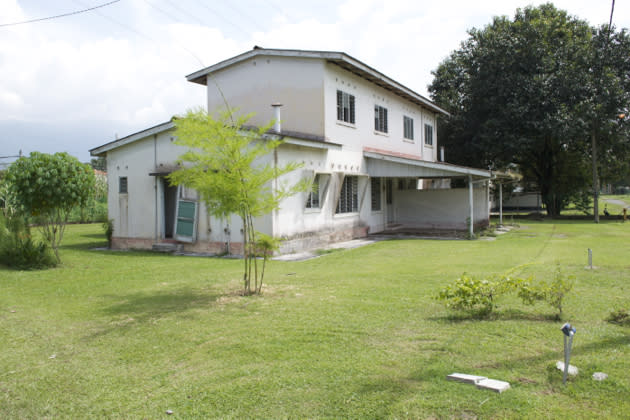
<path id="1" fill-rule="evenodd" d="M 100 225 L 70 226 L 61 267 L 0 268 L 0 418 L 627 418 L 630 327 L 604 319 L 630 306 L 629 239 L 630 223 L 527 221 L 494 241 L 385 241 L 272 262 L 264 295 L 241 297 L 240 260 L 93 251 Z M 549 307 L 508 297 L 476 320 L 433 299 L 463 272 L 556 264 L 575 276 L 566 386 Z"/>

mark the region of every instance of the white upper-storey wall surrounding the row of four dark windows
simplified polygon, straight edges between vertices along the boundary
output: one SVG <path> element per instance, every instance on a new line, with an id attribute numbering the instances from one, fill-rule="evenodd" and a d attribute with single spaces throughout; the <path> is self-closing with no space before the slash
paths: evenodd
<path id="1" fill-rule="evenodd" d="M 409 157 L 435 161 L 437 147 L 435 114 L 400 96 L 373 85 L 334 64 L 325 67 L 325 132 L 326 138 L 342 143 L 348 150 L 363 151 L 364 147 L 392 151 Z M 337 90 L 354 95 L 355 124 L 337 120 Z M 374 105 L 387 108 L 388 133 L 374 130 Z M 414 139 L 403 136 L 403 116 L 414 120 Z M 424 147 L 424 124 L 434 126 L 434 145 Z"/>

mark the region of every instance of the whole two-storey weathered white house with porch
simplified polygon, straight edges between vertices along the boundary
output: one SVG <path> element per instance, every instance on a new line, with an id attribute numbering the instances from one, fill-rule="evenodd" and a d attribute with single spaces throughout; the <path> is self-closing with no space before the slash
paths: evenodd
<path id="1" fill-rule="evenodd" d="M 256 47 L 187 79 L 205 86 L 210 112 L 229 105 L 254 113 L 252 125 L 275 119 L 268 135 L 283 144 L 268 162 L 302 164 L 278 182 L 313 183 L 256 220 L 259 231 L 283 239 L 281 252 L 388 229 L 488 222 L 492 174 L 440 156 L 436 119 L 446 112 L 347 54 Z M 239 253 L 237 217 L 211 217 L 195 191 L 169 185 L 184 151 L 173 130 L 166 122 L 90 151 L 107 158 L 113 246 Z M 450 188 L 453 179 L 467 187 Z"/>

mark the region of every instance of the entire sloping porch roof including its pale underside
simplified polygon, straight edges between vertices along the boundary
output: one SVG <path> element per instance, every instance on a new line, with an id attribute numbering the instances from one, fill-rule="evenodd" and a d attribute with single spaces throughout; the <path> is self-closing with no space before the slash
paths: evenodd
<path id="1" fill-rule="evenodd" d="M 411 157 L 396 156 L 386 152 L 364 150 L 367 172 L 373 177 L 384 178 L 464 178 L 492 179 L 494 174 L 483 169 L 469 168 L 444 162 L 430 162 Z"/>

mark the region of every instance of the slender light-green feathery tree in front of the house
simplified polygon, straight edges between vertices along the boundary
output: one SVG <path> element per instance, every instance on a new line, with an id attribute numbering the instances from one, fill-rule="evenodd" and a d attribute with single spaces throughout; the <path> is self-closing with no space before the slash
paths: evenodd
<path id="1" fill-rule="evenodd" d="M 260 293 L 262 279 L 256 260 L 258 233 L 254 219 L 277 209 L 280 202 L 308 184 L 274 186 L 282 175 L 301 165 L 277 166 L 265 161 L 281 141 L 268 138 L 270 125 L 244 128 L 248 116 L 237 117 L 232 110 L 213 118 L 204 110 L 188 111 L 174 120 L 176 143 L 188 151 L 180 156 L 182 168 L 169 180 L 174 185 L 194 188 L 210 214 L 225 217 L 237 214 L 243 222 L 243 290 Z M 260 280 L 260 281 L 259 281 Z"/>

